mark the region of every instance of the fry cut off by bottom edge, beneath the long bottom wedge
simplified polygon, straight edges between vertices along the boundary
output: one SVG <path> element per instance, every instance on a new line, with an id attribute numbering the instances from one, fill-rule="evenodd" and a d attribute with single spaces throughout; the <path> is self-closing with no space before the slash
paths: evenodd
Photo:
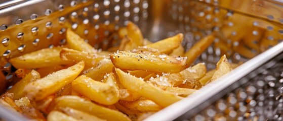
<path id="1" fill-rule="evenodd" d="M 99 117 L 96 117 L 94 115 L 91 115 L 89 113 L 83 112 L 83 111 L 79 111 L 70 107 L 65 107 L 65 108 L 61 108 L 60 110 L 62 110 L 62 112 L 68 114 L 69 116 L 72 116 L 78 120 L 85 120 L 85 121 L 93 121 L 93 120 L 97 120 L 97 121 L 102 121 L 105 119 L 101 119 Z"/>

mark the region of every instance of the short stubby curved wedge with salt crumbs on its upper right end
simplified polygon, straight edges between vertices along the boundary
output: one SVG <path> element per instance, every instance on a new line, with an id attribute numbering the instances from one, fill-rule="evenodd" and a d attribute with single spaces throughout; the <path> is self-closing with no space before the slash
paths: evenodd
<path id="1" fill-rule="evenodd" d="M 72 82 L 72 89 L 100 104 L 112 105 L 119 100 L 118 89 L 113 75 L 109 75 L 106 81 L 110 85 L 82 75 Z"/>

